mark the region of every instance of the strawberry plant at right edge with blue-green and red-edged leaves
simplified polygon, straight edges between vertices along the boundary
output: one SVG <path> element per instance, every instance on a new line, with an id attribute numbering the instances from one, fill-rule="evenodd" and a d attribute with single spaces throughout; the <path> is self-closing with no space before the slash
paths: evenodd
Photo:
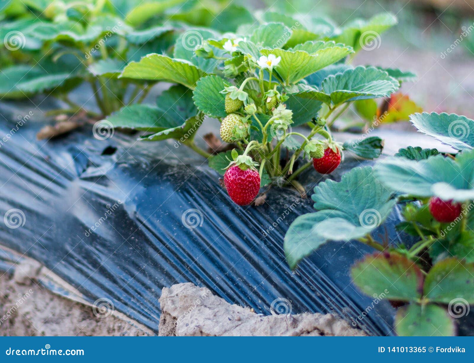
<path id="1" fill-rule="evenodd" d="M 292 269 L 328 241 L 358 240 L 377 252 L 351 270 L 356 286 L 399 307 L 399 335 L 455 335 L 456 318 L 474 304 L 474 121 L 446 113 L 410 116 L 420 131 L 459 150 L 408 147 L 374 168 L 354 168 L 340 182 L 314 188 L 316 212 L 296 218 L 284 239 Z M 411 245 L 377 241 L 375 231 L 400 203 L 400 233 Z"/>

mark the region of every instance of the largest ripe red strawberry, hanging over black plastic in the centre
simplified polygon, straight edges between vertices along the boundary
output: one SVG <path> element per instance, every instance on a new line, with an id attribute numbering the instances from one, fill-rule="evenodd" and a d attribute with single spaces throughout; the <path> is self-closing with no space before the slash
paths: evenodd
<path id="1" fill-rule="evenodd" d="M 238 205 L 249 205 L 260 189 L 260 175 L 245 164 L 234 165 L 224 174 L 224 184 L 230 199 Z"/>

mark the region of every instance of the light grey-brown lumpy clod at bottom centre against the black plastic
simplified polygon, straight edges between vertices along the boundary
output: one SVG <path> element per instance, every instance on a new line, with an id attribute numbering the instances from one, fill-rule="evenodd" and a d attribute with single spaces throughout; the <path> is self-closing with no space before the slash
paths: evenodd
<path id="1" fill-rule="evenodd" d="M 189 282 L 164 288 L 160 306 L 159 335 L 366 335 L 331 314 L 258 315 Z"/>

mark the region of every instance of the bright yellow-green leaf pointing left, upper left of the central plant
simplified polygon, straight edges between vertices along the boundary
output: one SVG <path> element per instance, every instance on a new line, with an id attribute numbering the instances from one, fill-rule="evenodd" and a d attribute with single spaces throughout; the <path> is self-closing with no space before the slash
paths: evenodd
<path id="1" fill-rule="evenodd" d="M 119 77 L 175 82 L 194 89 L 196 82 L 204 75 L 191 63 L 152 53 L 139 62 L 130 62 Z"/>

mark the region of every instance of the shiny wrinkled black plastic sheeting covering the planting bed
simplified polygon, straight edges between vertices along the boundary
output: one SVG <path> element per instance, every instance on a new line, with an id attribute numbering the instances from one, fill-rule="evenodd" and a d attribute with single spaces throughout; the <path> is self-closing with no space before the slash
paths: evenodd
<path id="1" fill-rule="evenodd" d="M 0 111 L 11 120 L 0 121 L 3 137 L 22 113 Z M 296 271 L 288 268 L 283 237 L 298 215 L 313 211 L 310 198 L 272 188 L 264 205 L 239 207 L 185 146 L 119 132 L 97 140 L 91 127 L 36 141 L 43 124 L 28 121 L 0 147 L 0 213 L 25 215 L 19 228 L 0 223 L 0 241 L 44 264 L 85 301 L 109 298 L 156 332 L 161 289 L 192 282 L 257 313 L 278 312 L 284 301 L 292 314 L 333 312 L 370 334 L 393 334 L 390 304 L 351 284 L 350 266 L 371 248 L 330 242 Z M 367 164 L 346 158 L 331 178 Z M 309 194 L 324 180 L 314 171 L 305 177 Z M 394 230 L 399 212 L 377 232 L 392 243 L 407 242 Z"/>

